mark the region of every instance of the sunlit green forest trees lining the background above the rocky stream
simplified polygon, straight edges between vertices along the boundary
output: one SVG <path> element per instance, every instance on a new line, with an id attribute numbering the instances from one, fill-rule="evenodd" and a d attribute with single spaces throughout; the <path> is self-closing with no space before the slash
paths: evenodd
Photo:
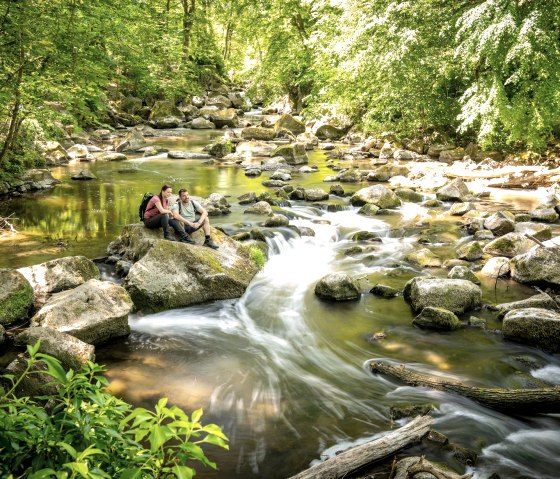
<path id="1" fill-rule="evenodd" d="M 560 137 L 559 0 L 0 0 L 0 170 L 126 96 L 218 85 L 355 131 L 543 151 Z"/>

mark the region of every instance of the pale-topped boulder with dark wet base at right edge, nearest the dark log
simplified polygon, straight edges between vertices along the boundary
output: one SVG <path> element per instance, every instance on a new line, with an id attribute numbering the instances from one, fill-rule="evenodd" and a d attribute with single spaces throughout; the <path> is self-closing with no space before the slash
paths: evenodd
<path id="1" fill-rule="evenodd" d="M 560 313 L 542 308 L 516 309 L 504 317 L 505 338 L 537 346 L 551 353 L 560 352 Z"/>

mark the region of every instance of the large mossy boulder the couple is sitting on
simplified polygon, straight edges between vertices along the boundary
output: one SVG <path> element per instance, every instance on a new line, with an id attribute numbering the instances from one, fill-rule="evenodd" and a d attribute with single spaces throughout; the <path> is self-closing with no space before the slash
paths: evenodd
<path id="1" fill-rule="evenodd" d="M 142 229 L 147 230 L 143 226 Z M 121 248 L 138 249 L 127 256 L 141 257 L 124 283 L 135 307 L 141 311 L 156 312 L 239 298 L 259 270 L 241 243 L 215 229 L 212 236 L 220 246 L 218 250 L 152 239 L 147 232 L 142 232 L 147 233 L 145 235 L 138 233 L 122 239 Z M 123 231 L 123 235 L 126 234 Z M 157 236 L 159 238 L 159 234 Z M 193 234 L 193 239 L 197 241 L 198 236 L 203 233 Z M 139 241 L 139 237 L 144 241 Z M 128 248 L 124 244 L 127 241 Z"/>

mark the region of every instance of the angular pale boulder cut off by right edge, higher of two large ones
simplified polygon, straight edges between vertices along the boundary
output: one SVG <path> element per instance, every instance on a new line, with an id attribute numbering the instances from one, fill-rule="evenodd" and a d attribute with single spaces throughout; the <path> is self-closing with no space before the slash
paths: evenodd
<path id="1" fill-rule="evenodd" d="M 546 243 L 545 243 L 546 244 Z M 534 246 L 510 260 L 511 277 L 519 283 L 560 285 L 560 246 Z"/>

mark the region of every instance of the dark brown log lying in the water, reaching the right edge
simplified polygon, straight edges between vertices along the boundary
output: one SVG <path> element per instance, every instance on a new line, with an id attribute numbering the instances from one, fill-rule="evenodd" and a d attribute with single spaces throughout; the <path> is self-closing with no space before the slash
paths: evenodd
<path id="1" fill-rule="evenodd" d="M 538 389 L 501 389 L 465 386 L 459 381 L 407 369 L 403 364 L 370 363 L 373 373 L 384 374 L 409 384 L 465 396 L 491 409 L 518 413 L 560 412 L 560 386 Z"/>

